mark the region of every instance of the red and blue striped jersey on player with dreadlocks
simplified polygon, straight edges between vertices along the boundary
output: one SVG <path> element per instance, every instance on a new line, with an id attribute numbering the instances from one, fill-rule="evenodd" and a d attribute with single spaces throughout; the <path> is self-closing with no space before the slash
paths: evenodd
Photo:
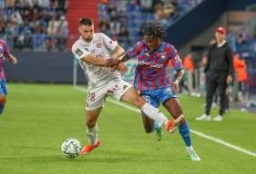
<path id="1" fill-rule="evenodd" d="M 130 48 L 128 58 L 138 58 L 134 87 L 138 91 L 156 90 L 162 87 L 170 87 L 167 67 L 169 61 L 175 70 L 182 70 L 183 64 L 179 53 L 170 43 L 162 42 L 159 50 L 150 51 L 145 41 L 140 41 Z"/>

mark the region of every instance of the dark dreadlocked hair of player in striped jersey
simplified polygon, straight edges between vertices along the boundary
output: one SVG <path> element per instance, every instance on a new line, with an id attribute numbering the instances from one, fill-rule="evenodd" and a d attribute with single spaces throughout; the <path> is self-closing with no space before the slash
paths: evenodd
<path id="1" fill-rule="evenodd" d="M 148 24 L 144 28 L 143 34 L 152 35 L 153 37 L 157 37 L 159 39 L 163 39 L 166 37 L 166 31 L 159 23 Z"/>

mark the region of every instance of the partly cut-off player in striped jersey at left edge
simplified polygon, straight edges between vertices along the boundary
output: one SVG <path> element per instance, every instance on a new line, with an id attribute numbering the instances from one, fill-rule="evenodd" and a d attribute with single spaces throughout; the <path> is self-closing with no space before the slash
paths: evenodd
<path id="1" fill-rule="evenodd" d="M 7 94 L 7 82 L 4 70 L 5 58 L 7 58 L 10 62 L 14 64 L 17 63 L 17 59 L 15 58 L 15 56 L 9 53 L 9 49 L 5 41 L 0 40 L 0 115 L 4 111 Z"/>

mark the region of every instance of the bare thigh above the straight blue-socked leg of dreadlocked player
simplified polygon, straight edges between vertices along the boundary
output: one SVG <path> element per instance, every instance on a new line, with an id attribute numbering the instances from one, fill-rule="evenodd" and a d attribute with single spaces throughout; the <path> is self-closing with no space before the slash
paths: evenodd
<path id="1" fill-rule="evenodd" d="M 163 105 L 174 119 L 182 114 L 182 108 L 178 98 L 169 98 Z"/>

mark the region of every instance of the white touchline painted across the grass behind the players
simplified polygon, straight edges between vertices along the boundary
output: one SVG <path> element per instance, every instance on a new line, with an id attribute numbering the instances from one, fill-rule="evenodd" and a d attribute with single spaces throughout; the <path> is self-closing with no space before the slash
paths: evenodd
<path id="1" fill-rule="evenodd" d="M 74 86 L 74 88 L 75 88 L 76 90 L 78 90 L 78 91 L 81 91 L 81 92 L 87 92 L 86 89 L 81 88 L 81 87 Z M 122 107 L 124 107 L 124 108 L 127 108 L 127 109 L 130 110 L 130 111 L 136 111 L 136 112 L 140 113 L 140 111 L 139 111 L 138 109 L 133 108 L 133 107 L 130 107 L 130 106 L 128 106 L 127 104 L 124 104 L 124 103 L 122 103 L 122 102 L 117 102 L 117 101 L 114 101 L 114 100 L 111 100 L 111 99 L 108 99 L 108 102 L 112 102 L 112 103 L 114 103 L 114 104 L 117 104 L 118 106 L 122 106 Z M 219 143 L 219 144 L 221 144 L 221 145 L 227 146 L 227 147 L 229 147 L 229 148 L 232 149 L 232 150 L 241 151 L 242 153 L 245 153 L 245 154 L 247 154 L 247 155 L 251 155 L 251 156 L 253 156 L 253 157 L 256 157 L 256 153 L 254 153 L 254 152 L 252 152 L 252 151 L 249 151 L 249 150 L 244 150 L 244 149 L 242 149 L 242 148 L 239 147 L 239 146 L 232 145 L 232 144 L 230 144 L 229 142 L 226 142 L 225 140 L 220 140 L 220 139 L 211 137 L 211 136 L 209 136 L 209 135 L 206 135 L 206 134 L 204 134 L 204 133 L 201 133 L 200 131 L 194 131 L 194 130 L 191 130 L 191 129 L 190 129 L 190 131 L 191 131 L 192 133 L 194 133 L 194 134 L 196 134 L 196 135 L 202 137 L 202 138 L 205 138 L 205 139 L 208 139 L 208 140 L 212 140 L 212 141 L 217 142 L 217 143 Z"/>

